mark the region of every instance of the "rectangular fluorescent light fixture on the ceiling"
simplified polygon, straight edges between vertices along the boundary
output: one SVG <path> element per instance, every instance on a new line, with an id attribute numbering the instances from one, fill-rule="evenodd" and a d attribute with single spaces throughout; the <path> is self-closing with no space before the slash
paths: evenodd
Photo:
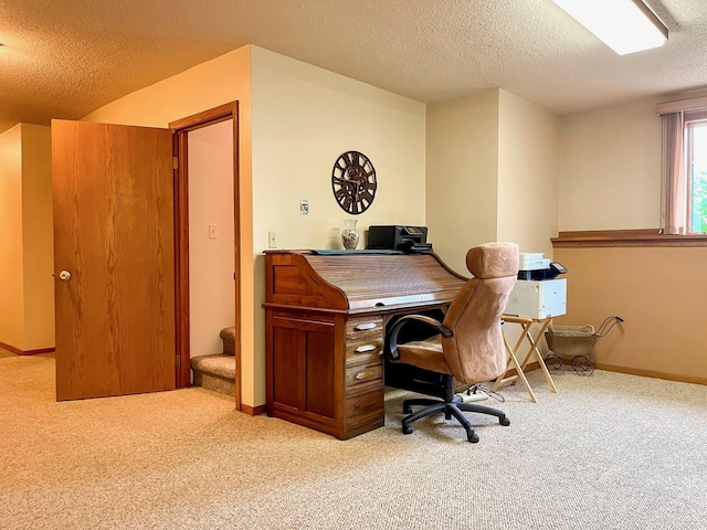
<path id="1" fill-rule="evenodd" d="M 667 28 L 642 0 L 552 1 L 619 55 L 667 41 Z"/>

